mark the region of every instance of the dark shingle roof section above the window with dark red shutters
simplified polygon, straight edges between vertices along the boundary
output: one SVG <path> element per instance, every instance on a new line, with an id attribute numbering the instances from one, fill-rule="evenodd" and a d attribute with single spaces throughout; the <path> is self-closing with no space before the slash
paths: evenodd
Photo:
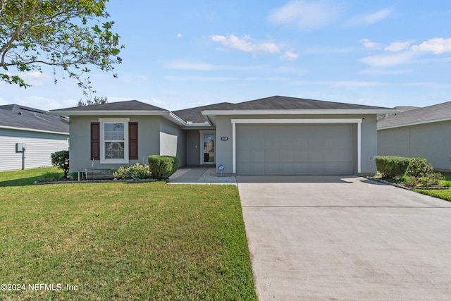
<path id="1" fill-rule="evenodd" d="M 137 100 L 125 102 L 109 102 L 106 104 L 93 104 L 91 106 L 75 106 L 73 108 L 57 109 L 52 111 L 168 111 L 152 104 L 145 104 Z"/>

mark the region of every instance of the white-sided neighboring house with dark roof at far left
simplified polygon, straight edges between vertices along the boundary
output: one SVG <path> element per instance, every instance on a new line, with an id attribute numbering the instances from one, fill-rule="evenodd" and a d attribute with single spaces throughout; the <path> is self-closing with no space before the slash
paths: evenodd
<path id="1" fill-rule="evenodd" d="M 51 166 L 51 153 L 68 149 L 68 121 L 46 113 L 0 106 L 0 171 Z"/>

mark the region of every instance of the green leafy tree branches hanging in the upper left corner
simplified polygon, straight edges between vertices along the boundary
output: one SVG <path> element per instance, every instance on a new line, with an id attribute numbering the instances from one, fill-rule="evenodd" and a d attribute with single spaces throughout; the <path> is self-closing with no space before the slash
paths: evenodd
<path id="1" fill-rule="evenodd" d="M 63 77 L 78 80 L 87 94 L 92 86 L 85 73 L 92 67 L 109 72 L 122 62 L 118 54 L 124 46 L 111 31 L 114 22 L 101 23 L 109 17 L 107 1 L 0 0 L 0 67 L 19 72 L 61 67 Z M 30 87 L 18 75 L 0 73 L 0 80 Z"/>

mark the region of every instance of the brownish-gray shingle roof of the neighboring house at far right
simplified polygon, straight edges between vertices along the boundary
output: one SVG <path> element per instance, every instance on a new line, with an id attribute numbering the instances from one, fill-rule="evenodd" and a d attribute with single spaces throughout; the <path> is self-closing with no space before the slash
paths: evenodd
<path id="1" fill-rule="evenodd" d="M 378 129 L 396 128 L 415 123 L 429 123 L 443 119 L 451 120 L 451 102 L 434 104 L 433 106 L 403 111 L 395 116 L 388 116 L 388 118 L 378 121 Z"/>

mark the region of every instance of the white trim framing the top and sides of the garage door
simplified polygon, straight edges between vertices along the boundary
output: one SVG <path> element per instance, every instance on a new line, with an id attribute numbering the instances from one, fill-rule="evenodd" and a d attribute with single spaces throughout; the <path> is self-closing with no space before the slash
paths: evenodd
<path id="1" fill-rule="evenodd" d="M 237 173 L 237 123 L 357 123 L 357 173 L 362 172 L 362 118 L 334 119 L 232 119 L 232 173 Z"/>

